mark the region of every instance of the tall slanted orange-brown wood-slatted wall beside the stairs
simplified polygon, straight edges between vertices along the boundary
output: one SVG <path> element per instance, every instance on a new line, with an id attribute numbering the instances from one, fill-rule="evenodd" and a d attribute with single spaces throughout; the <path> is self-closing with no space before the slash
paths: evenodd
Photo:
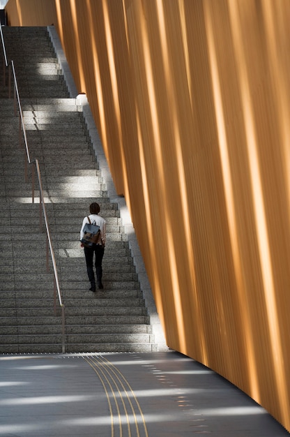
<path id="1" fill-rule="evenodd" d="M 9 0 L 54 24 L 170 348 L 290 431 L 289 0 Z"/>

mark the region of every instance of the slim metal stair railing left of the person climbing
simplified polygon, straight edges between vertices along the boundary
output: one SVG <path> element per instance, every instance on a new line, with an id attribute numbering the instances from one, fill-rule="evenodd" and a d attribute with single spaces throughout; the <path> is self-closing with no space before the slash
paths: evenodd
<path id="1" fill-rule="evenodd" d="M 23 112 L 22 112 L 22 107 L 21 107 L 21 102 L 20 102 L 20 95 L 19 95 L 19 90 L 17 87 L 15 66 L 14 66 L 13 60 L 8 62 L 8 59 L 7 59 L 2 26 L 0 26 L 0 34 L 1 34 L 1 43 L 2 43 L 3 57 L 4 57 L 4 60 L 3 60 L 4 83 L 6 83 L 6 71 L 8 70 L 8 97 L 11 98 L 11 72 L 12 72 L 13 84 L 14 84 L 14 87 L 13 87 L 13 89 L 14 89 L 14 97 L 13 97 L 14 98 L 14 111 L 15 111 L 15 116 L 17 116 L 17 105 L 18 105 L 18 111 L 19 111 L 19 116 L 20 116 L 20 146 L 22 144 L 22 142 L 21 142 L 21 131 L 22 131 L 25 149 L 26 149 L 26 158 L 24 161 L 25 181 L 26 182 L 28 181 L 28 166 L 31 165 L 31 184 L 32 184 L 31 198 L 32 198 L 32 203 L 34 203 L 34 200 L 35 200 L 35 196 L 34 196 L 35 169 L 36 169 L 36 173 L 37 173 L 37 177 L 38 177 L 39 205 L 40 205 L 40 232 L 42 230 L 42 215 L 43 215 L 44 221 L 45 221 L 45 230 L 47 233 L 46 268 L 47 268 L 47 272 L 48 272 L 49 271 L 49 251 L 50 251 L 50 255 L 52 258 L 52 266 L 53 266 L 53 270 L 54 270 L 54 313 L 56 314 L 56 300 L 57 300 L 56 295 L 57 295 L 58 300 L 59 300 L 59 306 L 61 308 L 62 352 L 65 353 L 66 352 L 65 306 L 63 304 L 63 300 L 61 297 L 61 290 L 59 287 L 59 276 L 58 276 L 57 269 L 56 269 L 56 261 L 55 261 L 55 256 L 54 256 L 54 250 L 52 247 L 52 239 L 51 239 L 50 233 L 49 233 L 49 224 L 47 221 L 47 213 L 46 213 L 46 209 L 45 209 L 45 198 L 43 195 L 43 186 L 42 186 L 42 182 L 41 182 L 40 167 L 39 167 L 38 159 L 31 161 L 31 158 L 30 158 L 29 147 L 28 147 L 28 143 L 27 143 L 26 131 L 25 131 L 25 126 L 24 126 Z M 57 293 L 56 293 L 56 291 L 57 291 Z"/>

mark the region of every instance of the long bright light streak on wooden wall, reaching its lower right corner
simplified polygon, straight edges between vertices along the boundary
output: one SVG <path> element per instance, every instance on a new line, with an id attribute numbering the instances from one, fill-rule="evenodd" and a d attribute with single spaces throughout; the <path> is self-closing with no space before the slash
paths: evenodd
<path id="1" fill-rule="evenodd" d="M 264 299 L 268 320 L 268 331 L 270 334 L 271 358 L 273 359 L 273 373 L 277 383 L 277 390 L 280 393 L 279 408 L 284 415 L 284 420 L 289 417 L 289 401 L 287 387 L 285 387 L 284 356 L 281 345 L 281 334 L 279 326 L 279 315 L 275 297 L 275 286 L 273 281 L 273 269 L 271 263 L 270 247 L 268 241 L 268 230 L 266 223 L 266 212 L 264 206 L 263 187 L 261 182 L 259 156 L 257 151 L 257 138 L 255 132 L 254 112 L 252 109 L 252 96 L 250 93 L 249 78 L 247 73 L 247 62 L 244 53 L 244 40 L 241 31 L 241 20 L 238 14 L 238 4 L 228 1 L 231 29 L 235 46 L 236 59 L 239 66 L 238 79 L 240 81 L 241 99 L 243 105 L 243 116 L 245 123 L 245 134 L 247 140 L 248 164 L 252 182 L 252 203 L 256 221 L 257 240 L 259 245 L 259 262 L 264 288 Z"/>

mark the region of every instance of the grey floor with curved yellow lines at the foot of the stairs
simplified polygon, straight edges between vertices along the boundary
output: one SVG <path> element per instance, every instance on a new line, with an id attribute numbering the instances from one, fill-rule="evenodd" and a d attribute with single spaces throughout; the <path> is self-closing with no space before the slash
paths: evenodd
<path id="1" fill-rule="evenodd" d="M 0 437 L 282 437 L 243 392 L 174 351 L 0 355 Z"/>

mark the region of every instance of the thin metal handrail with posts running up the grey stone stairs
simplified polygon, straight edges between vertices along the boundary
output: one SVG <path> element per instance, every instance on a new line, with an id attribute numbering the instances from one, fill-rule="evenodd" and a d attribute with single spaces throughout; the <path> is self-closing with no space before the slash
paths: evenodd
<path id="1" fill-rule="evenodd" d="M 7 56 L 6 56 L 6 47 L 5 47 L 5 43 L 4 43 L 4 39 L 3 39 L 3 32 L 2 32 L 1 26 L 0 26 L 0 33 L 1 33 L 1 42 L 2 42 L 2 48 L 3 48 L 3 54 L 4 54 L 4 58 L 5 58 L 5 63 L 6 63 L 6 67 L 8 67 L 8 61 L 7 61 Z M 53 269 L 54 269 L 54 311 L 56 311 L 55 300 L 56 300 L 56 290 L 57 290 L 57 295 L 59 297 L 59 305 L 61 306 L 62 352 L 65 353 L 65 351 L 66 351 L 66 342 L 65 342 L 65 313 L 64 313 L 65 307 L 64 307 L 64 304 L 63 304 L 62 298 L 61 298 L 61 290 L 60 290 L 60 287 L 59 287 L 59 275 L 58 275 L 57 269 L 56 269 L 56 261 L 55 261 L 55 257 L 54 257 L 54 250 L 53 250 L 53 247 L 52 247 L 52 239 L 50 237 L 50 232 L 49 232 L 49 225 L 48 225 L 47 213 L 46 213 L 46 208 L 45 208 L 45 198 L 44 198 L 44 195 L 43 195 L 43 185 L 42 185 L 42 182 L 41 182 L 40 168 L 39 168 L 38 159 L 35 159 L 34 161 L 31 161 L 31 158 L 30 158 L 29 147 L 28 147 L 27 138 L 26 138 L 26 130 L 25 130 L 25 126 L 24 126 L 23 112 L 22 112 L 22 107 L 21 107 L 21 102 L 20 102 L 20 94 L 19 94 L 19 90 L 18 90 L 18 86 L 17 86 L 17 78 L 16 78 L 15 67 L 14 67 L 13 61 L 11 61 L 11 67 L 12 67 L 12 71 L 13 71 L 15 97 L 17 98 L 18 110 L 19 110 L 19 113 L 20 113 L 20 123 L 21 123 L 22 132 L 23 132 L 23 136 L 24 136 L 27 162 L 29 164 L 35 163 L 35 165 L 36 165 L 36 172 L 37 172 L 37 175 L 38 175 L 39 202 L 42 205 L 42 209 L 43 209 L 43 216 L 44 216 L 44 219 L 45 219 L 45 229 L 46 229 L 46 233 L 47 233 L 47 242 L 49 244 L 50 254 L 51 254 L 51 257 L 52 257 L 52 266 L 53 266 Z M 32 191 L 33 191 L 32 201 L 34 202 L 34 182 L 33 182 Z M 41 216 L 40 216 L 40 221 L 41 221 Z"/>

